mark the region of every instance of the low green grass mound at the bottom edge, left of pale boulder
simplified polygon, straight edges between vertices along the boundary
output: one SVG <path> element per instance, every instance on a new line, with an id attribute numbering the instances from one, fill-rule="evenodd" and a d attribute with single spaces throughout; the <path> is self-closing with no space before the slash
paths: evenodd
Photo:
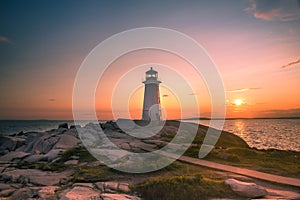
<path id="1" fill-rule="evenodd" d="M 174 176 L 168 178 L 152 179 L 131 188 L 141 194 L 145 199 L 211 199 L 236 198 L 224 181 L 203 178 L 200 174 L 195 176 Z"/>

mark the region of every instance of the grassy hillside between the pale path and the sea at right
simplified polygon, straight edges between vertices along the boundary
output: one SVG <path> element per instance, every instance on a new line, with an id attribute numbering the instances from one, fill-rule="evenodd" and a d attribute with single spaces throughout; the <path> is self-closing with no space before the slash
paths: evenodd
<path id="1" fill-rule="evenodd" d="M 176 121 L 167 121 L 167 128 L 163 129 L 161 134 L 164 141 L 173 139 L 176 134 L 174 126 L 178 124 Z M 199 125 L 197 135 L 184 155 L 198 158 L 207 129 L 206 126 Z M 282 176 L 300 177 L 300 152 L 257 150 L 250 148 L 238 136 L 225 131 L 222 131 L 215 148 L 204 159 Z"/>

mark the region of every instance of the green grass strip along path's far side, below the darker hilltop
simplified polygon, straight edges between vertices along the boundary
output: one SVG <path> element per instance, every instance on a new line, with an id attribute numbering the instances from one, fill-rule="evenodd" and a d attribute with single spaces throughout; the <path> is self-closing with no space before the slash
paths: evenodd
<path id="1" fill-rule="evenodd" d="M 198 158 L 200 145 L 191 146 L 186 156 Z M 248 147 L 214 148 L 204 159 L 254 169 L 262 172 L 300 177 L 300 153 L 280 150 L 257 150 Z"/>

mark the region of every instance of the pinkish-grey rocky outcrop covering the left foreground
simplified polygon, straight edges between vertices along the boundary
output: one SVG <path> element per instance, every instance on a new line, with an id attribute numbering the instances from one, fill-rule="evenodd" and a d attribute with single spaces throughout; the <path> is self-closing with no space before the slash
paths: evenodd
<path id="1" fill-rule="evenodd" d="M 51 162 L 60 162 L 64 151 L 80 146 L 81 140 L 78 137 L 77 129 L 95 130 L 95 125 L 90 124 L 85 128 L 71 127 L 62 124 L 58 129 L 46 132 L 27 132 L 14 136 L 0 137 L 0 197 L 9 199 L 139 199 L 130 196 L 129 184 L 126 182 L 97 182 L 97 183 L 75 183 L 72 184 L 74 170 L 62 172 L 43 171 L 48 169 Z M 117 145 L 123 149 L 130 150 L 130 143 L 126 141 L 128 136 L 118 132 L 115 123 L 110 122 L 106 130 L 113 128 L 117 132 L 111 131 Z M 85 135 L 89 137 L 89 135 Z M 92 136 L 95 136 L 92 134 Z M 120 138 L 120 143 L 117 142 Z M 99 138 L 98 138 L 99 139 Z M 103 142 L 92 140 L 93 142 Z M 133 143 L 134 144 L 134 143 Z M 135 143 L 134 145 L 137 145 Z M 106 149 L 108 155 L 112 157 L 120 151 L 116 149 Z M 111 151 L 110 151 L 111 150 Z M 98 167 L 103 164 L 100 161 L 90 163 L 80 163 L 79 156 L 71 156 L 63 160 L 64 166 L 88 166 Z M 23 164 L 24 165 L 23 165 Z M 46 168 L 31 169 L 26 163 L 33 163 L 33 166 L 42 164 Z M 21 167 L 21 168 L 18 168 Z M 59 168 L 58 168 L 59 169 Z M 52 170 L 52 169 L 51 169 Z M 126 193 L 126 194 L 116 194 Z"/>

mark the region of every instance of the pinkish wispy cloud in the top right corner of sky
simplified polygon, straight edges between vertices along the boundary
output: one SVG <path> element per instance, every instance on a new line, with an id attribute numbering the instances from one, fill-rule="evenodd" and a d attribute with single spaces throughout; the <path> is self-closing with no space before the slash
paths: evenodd
<path id="1" fill-rule="evenodd" d="M 267 21 L 293 21 L 300 19 L 298 0 L 249 0 L 250 7 L 245 11 L 254 17 Z"/>

